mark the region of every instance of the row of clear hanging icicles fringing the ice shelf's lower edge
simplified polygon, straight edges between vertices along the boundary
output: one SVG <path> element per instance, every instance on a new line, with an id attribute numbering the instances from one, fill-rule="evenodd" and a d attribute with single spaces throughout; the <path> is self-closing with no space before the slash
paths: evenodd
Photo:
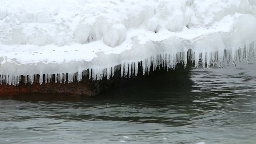
<path id="1" fill-rule="evenodd" d="M 183 52 L 172 54 L 154 54 L 141 61 L 121 63 L 121 68 L 116 66 L 110 66 L 107 68 L 89 68 L 88 74 L 89 78 L 92 78 L 93 80 L 101 80 L 105 76 L 107 79 L 109 79 L 111 74 L 114 75 L 116 69 L 119 68 L 119 70 L 121 70 L 121 76 L 130 77 L 131 75 L 136 76 L 138 74 L 139 62 L 142 62 L 142 72 L 145 74 L 146 72 L 149 72 L 151 66 L 153 70 L 156 70 L 156 68 L 160 65 L 162 65 L 163 68 L 167 68 L 167 70 L 172 70 L 175 69 L 176 65 L 179 63 L 186 66 L 187 60 L 192 61 L 196 68 L 198 68 L 200 65 L 202 65 L 203 68 L 210 68 L 211 65 L 218 65 L 220 68 L 222 68 L 224 64 L 236 66 L 237 62 L 256 63 L 256 44 L 255 42 L 252 42 L 250 44 L 245 44 L 242 48 L 230 48 L 225 49 L 224 51 L 208 50 L 200 52 L 198 50 L 188 49 Z M 55 83 L 65 83 L 66 81 L 68 83 L 72 83 L 74 82 L 75 78 L 77 78 L 77 81 L 80 82 L 82 80 L 82 76 L 85 75 L 85 70 L 87 69 L 80 68 L 77 72 L 58 73 L 55 75 L 40 73 L 39 84 L 42 84 L 43 82 L 52 82 L 53 76 Z M 37 74 L 29 74 L 25 76 L 25 84 L 27 84 L 27 82 L 33 84 L 36 81 L 36 75 Z M 0 84 L 5 83 L 8 85 L 18 85 L 20 80 L 21 76 L 14 74 L 7 75 L 3 72 L 0 74 Z"/>

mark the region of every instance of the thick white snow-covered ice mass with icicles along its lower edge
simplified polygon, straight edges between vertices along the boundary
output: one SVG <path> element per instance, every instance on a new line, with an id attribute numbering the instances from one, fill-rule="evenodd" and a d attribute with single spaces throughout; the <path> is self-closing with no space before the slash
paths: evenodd
<path id="1" fill-rule="evenodd" d="M 1 0 L 0 84 L 256 62 L 255 40 L 255 0 Z"/>

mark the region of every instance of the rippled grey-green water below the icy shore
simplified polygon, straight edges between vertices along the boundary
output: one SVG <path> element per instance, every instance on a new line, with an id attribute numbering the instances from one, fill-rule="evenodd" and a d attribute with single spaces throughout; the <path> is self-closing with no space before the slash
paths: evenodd
<path id="1" fill-rule="evenodd" d="M 255 144 L 255 70 L 176 70 L 94 98 L 2 96 L 0 143 Z"/>

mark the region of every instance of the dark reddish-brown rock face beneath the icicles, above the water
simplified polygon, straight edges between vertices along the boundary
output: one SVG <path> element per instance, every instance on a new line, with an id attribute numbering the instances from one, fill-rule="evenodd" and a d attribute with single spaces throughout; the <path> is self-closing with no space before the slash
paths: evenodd
<path id="1" fill-rule="evenodd" d="M 177 66 L 177 68 L 183 68 L 184 65 L 180 64 Z M 176 69 L 177 69 L 176 68 Z M 36 75 L 36 78 L 33 82 L 33 84 L 30 84 L 26 82 L 25 84 L 25 76 L 21 76 L 21 81 L 18 86 L 14 85 L 6 85 L 4 82 L 0 85 L 0 94 L 5 95 L 18 95 L 18 94 L 24 94 L 29 92 L 36 92 L 36 93 L 63 93 L 63 94 L 78 94 L 83 96 L 95 96 L 96 94 L 99 94 L 100 92 L 116 88 L 122 83 L 125 83 L 129 80 L 133 80 L 136 78 L 141 78 L 143 76 L 152 75 L 155 74 L 161 74 L 161 72 L 166 71 L 166 67 L 164 68 L 162 65 L 158 66 L 156 71 L 153 71 L 152 67 L 150 68 L 150 72 L 146 72 L 146 74 L 142 74 L 142 63 L 139 62 L 138 64 L 138 74 L 135 76 L 135 74 L 130 74 L 130 77 L 128 76 L 121 76 L 121 66 L 116 66 L 116 71 L 114 72 L 114 75 L 111 74 L 110 79 L 107 79 L 106 77 L 103 77 L 100 80 L 92 80 L 92 78 L 89 78 L 88 71 L 84 70 L 82 81 L 78 82 L 77 78 L 75 78 L 75 81 L 72 83 L 68 83 L 68 78 L 66 82 L 56 82 L 55 83 L 55 75 L 53 74 L 53 79 L 51 82 L 45 83 L 45 81 L 40 85 L 39 84 L 39 77 L 40 75 Z M 160 73 L 159 73 L 160 72 Z M 68 74 L 67 74 L 68 76 Z"/>

